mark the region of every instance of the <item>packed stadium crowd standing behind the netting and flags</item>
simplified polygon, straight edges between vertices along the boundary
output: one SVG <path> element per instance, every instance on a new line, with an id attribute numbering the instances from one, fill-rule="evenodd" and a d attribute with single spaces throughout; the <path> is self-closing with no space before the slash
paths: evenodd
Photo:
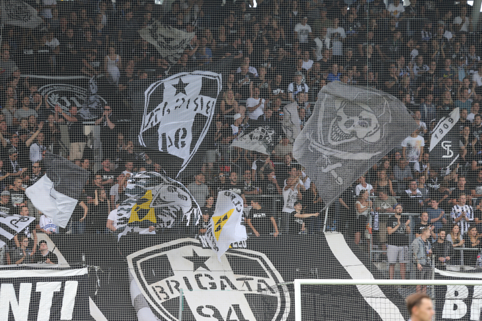
<path id="1" fill-rule="evenodd" d="M 9 245 L 9 263 L 25 263 L 28 238 L 34 241 L 31 252 L 46 253 L 37 244 L 37 232 L 116 231 L 115 215 L 109 213 L 123 199 L 128 177 L 139 171 L 164 173 L 162 162 L 138 148 L 129 125 L 120 122 L 125 110 L 136 109 L 136 82 L 213 66 L 222 68 L 223 91 L 205 138 L 209 147 L 198 151 L 204 158 L 199 170 L 181 179 L 202 208 L 200 234 L 220 190 L 243 196 L 251 237 L 322 230 L 323 201 L 292 157 L 293 142 L 281 126 L 283 107 L 297 104 L 302 129 L 321 88 L 342 81 L 393 94 L 420 127 L 335 202 L 331 216 L 337 230 L 356 245 L 371 233 L 373 244 L 387 244 L 389 263 L 428 264 L 423 251 L 413 250 L 413 257 L 407 252 L 410 235 L 423 242 L 412 249 L 428 247 L 432 240 L 440 264 L 460 262 L 452 248 L 479 248 L 482 37 L 467 1 L 265 0 L 256 7 L 254 1 L 27 2 L 44 24 L 36 29 L 5 25 L 1 41 L 0 210 L 40 217 L 25 188 L 42 177 L 45 150 L 63 152 L 91 178 L 68 229 L 41 215 L 35 228 Z M 137 32 L 154 21 L 196 33 L 173 66 Z M 94 164 L 77 107 L 71 105 L 69 112 L 50 107 L 39 81 L 24 76 L 30 74 L 105 75 L 101 85 L 115 103 L 104 106 L 93 124 L 101 128 L 101 165 Z M 431 131 L 456 107 L 460 158 L 448 170 L 432 168 L 426 147 Z M 276 132 L 271 155 L 230 147 L 243 133 L 265 125 Z M 466 263 L 477 263 L 479 252 L 473 253 Z M 53 263 L 47 256 L 44 261 Z"/>

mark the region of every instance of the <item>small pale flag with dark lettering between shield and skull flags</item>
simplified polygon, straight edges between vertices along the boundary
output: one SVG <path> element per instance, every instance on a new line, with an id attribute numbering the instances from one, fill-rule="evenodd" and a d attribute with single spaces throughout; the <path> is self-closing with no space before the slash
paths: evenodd
<path id="1" fill-rule="evenodd" d="M 233 141 L 231 146 L 254 150 L 265 155 L 271 155 L 275 147 L 276 132 L 269 126 L 259 126 L 251 132 L 244 131 Z"/>

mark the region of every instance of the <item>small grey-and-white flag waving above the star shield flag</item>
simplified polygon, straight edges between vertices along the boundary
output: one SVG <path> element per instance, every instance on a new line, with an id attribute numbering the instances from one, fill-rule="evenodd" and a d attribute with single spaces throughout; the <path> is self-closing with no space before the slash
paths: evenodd
<path id="1" fill-rule="evenodd" d="M 139 35 L 156 47 L 161 57 L 174 65 L 196 33 L 186 33 L 160 21 L 139 30 Z"/>

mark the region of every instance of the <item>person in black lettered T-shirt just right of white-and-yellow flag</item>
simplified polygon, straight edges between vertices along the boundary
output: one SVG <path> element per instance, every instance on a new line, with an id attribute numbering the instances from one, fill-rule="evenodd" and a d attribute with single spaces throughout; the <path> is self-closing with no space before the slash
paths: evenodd
<path id="1" fill-rule="evenodd" d="M 270 212 L 269 210 L 263 209 L 258 199 L 251 199 L 250 202 L 251 209 L 246 217 L 246 224 L 252 233 L 256 237 L 269 236 L 271 233 L 274 233 L 273 236 L 277 237 L 280 232 L 278 231 L 275 217 L 268 213 Z"/>

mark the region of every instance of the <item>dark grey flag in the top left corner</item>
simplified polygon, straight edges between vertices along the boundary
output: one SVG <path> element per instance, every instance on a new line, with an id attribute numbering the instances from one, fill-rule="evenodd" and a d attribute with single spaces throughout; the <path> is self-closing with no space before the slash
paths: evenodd
<path id="1" fill-rule="evenodd" d="M 22 28 L 36 28 L 43 23 L 37 10 L 20 0 L 1 0 L 1 23 Z"/>

